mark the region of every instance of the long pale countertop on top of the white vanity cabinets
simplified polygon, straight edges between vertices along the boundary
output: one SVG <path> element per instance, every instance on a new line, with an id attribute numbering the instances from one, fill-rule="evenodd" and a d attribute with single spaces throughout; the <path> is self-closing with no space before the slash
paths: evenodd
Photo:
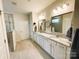
<path id="1" fill-rule="evenodd" d="M 68 38 L 56 36 L 56 35 L 52 35 L 52 34 L 47 34 L 47 33 L 40 33 L 40 32 L 37 32 L 37 34 L 40 34 L 44 37 L 51 39 L 52 41 L 58 42 L 58 43 L 63 44 L 65 46 L 68 46 L 68 47 L 71 46 L 71 41 L 69 41 Z"/>

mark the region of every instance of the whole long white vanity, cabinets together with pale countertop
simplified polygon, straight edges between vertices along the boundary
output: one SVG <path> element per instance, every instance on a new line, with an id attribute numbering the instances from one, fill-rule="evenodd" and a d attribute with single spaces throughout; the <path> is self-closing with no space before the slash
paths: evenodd
<path id="1" fill-rule="evenodd" d="M 71 42 L 64 37 L 34 32 L 34 41 L 55 59 L 70 59 Z"/>

